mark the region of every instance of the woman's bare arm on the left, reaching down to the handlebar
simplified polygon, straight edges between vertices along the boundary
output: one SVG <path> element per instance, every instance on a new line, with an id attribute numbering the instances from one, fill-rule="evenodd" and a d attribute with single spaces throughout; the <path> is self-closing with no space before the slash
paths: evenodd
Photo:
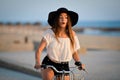
<path id="1" fill-rule="evenodd" d="M 34 66 L 34 67 L 35 67 L 36 69 L 40 68 L 40 56 L 41 56 L 42 51 L 43 51 L 44 48 L 46 47 L 46 44 L 47 44 L 47 42 L 46 42 L 46 40 L 43 38 L 43 39 L 41 40 L 41 42 L 40 42 L 40 45 L 39 45 L 36 53 L 35 53 L 35 61 L 36 61 L 36 62 L 35 62 L 35 66 Z"/>

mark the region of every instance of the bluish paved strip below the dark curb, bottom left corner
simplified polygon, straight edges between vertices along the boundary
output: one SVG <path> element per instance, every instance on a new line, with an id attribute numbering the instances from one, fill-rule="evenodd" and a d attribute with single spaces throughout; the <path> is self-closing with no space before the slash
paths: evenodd
<path id="1" fill-rule="evenodd" d="M 0 80 L 42 80 L 35 76 L 23 74 L 21 72 L 0 68 Z"/>

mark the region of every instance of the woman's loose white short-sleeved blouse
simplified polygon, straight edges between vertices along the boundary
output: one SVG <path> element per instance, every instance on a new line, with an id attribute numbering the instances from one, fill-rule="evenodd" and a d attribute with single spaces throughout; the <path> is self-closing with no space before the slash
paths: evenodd
<path id="1" fill-rule="evenodd" d="M 58 38 L 59 42 L 55 38 L 55 34 L 51 29 L 46 30 L 43 33 L 43 38 L 47 42 L 47 55 L 51 60 L 57 62 L 66 62 L 72 59 L 72 54 L 80 48 L 78 37 L 75 35 L 75 47 L 74 51 L 70 47 L 69 38 Z"/>

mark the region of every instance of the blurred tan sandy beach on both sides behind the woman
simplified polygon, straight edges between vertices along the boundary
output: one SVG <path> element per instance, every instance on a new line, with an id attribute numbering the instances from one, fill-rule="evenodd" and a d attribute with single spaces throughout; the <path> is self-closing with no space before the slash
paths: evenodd
<path id="1" fill-rule="evenodd" d="M 32 51 L 42 33 L 50 26 L 0 26 L 0 51 Z M 120 50 L 119 36 L 86 35 L 77 33 L 81 51 L 87 49 Z"/>

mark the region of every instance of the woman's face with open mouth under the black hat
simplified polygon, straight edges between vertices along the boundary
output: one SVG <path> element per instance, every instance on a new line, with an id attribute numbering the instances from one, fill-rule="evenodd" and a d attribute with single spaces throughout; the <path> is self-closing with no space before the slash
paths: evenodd
<path id="1" fill-rule="evenodd" d="M 61 13 L 59 16 L 59 26 L 61 28 L 66 28 L 67 22 L 68 22 L 67 13 Z"/>

